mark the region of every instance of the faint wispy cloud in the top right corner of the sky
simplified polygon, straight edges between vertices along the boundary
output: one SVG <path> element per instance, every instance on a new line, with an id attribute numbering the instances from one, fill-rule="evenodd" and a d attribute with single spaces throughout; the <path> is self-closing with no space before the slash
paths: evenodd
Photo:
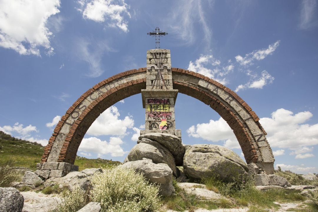
<path id="1" fill-rule="evenodd" d="M 299 28 L 302 30 L 316 27 L 317 21 L 317 1 L 303 0 L 301 2 L 301 14 Z"/>

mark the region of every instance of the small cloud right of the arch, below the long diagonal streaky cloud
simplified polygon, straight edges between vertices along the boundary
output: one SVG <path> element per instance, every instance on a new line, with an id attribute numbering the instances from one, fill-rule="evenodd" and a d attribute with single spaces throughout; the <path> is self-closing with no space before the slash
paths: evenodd
<path id="1" fill-rule="evenodd" d="M 247 75 L 252 75 L 252 73 L 249 72 Z M 244 85 L 242 85 L 242 84 L 238 85 L 235 89 L 235 92 L 238 92 L 240 90 L 245 90 L 247 88 L 262 89 L 265 85 L 273 83 L 273 81 L 275 79 L 274 77 L 272 77 L 272 75 L 270 75 L 265 70 L 262 71 L 261 75 L 262 76 L 259 77 L 258 79 L 252 79 L 252 78 L 254 78 L 254 77 L 252 77 L 251 80 L 249 82 L 245 83 Z"/>

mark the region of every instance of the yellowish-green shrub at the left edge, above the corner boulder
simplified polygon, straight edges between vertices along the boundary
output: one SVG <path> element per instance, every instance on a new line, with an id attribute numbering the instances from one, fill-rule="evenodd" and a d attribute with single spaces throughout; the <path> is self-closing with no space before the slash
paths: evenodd
<path id="1" fill-rule="evenodd" d="M 10 187 L 13 181 L 20 181 L 21 174 L 12 169 L 12 160 L 6 160 L 0 164 L 0 187 Z"/>

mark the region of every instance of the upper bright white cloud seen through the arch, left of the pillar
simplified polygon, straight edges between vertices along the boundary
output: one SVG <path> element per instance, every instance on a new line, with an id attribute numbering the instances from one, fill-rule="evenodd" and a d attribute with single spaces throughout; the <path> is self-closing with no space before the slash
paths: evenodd
<path id="1" fill-rule="evenodd" d="M 117 107 L 110 106 L 93 122 L 87 130 L 88 135 L 126 135 L 127 128 L 134 127 L 132 117 L 126 116 L 123 120 L 118 119 L 120 113 Z"/>

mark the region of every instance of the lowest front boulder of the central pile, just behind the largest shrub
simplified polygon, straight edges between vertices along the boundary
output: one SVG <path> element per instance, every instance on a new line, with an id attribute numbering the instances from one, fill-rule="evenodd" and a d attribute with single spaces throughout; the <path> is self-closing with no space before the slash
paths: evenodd
<path id="1" fill-rule="evenodd" d="M 175 193 L 172 185 L 172 170 L 165 163 L 155 164 L 149 159 L 130 161 L 122 165 L 123 168 L 134 168 L 140 172 L 149 182 L 159 185 L 159 195 L 170 196 Z"/>

